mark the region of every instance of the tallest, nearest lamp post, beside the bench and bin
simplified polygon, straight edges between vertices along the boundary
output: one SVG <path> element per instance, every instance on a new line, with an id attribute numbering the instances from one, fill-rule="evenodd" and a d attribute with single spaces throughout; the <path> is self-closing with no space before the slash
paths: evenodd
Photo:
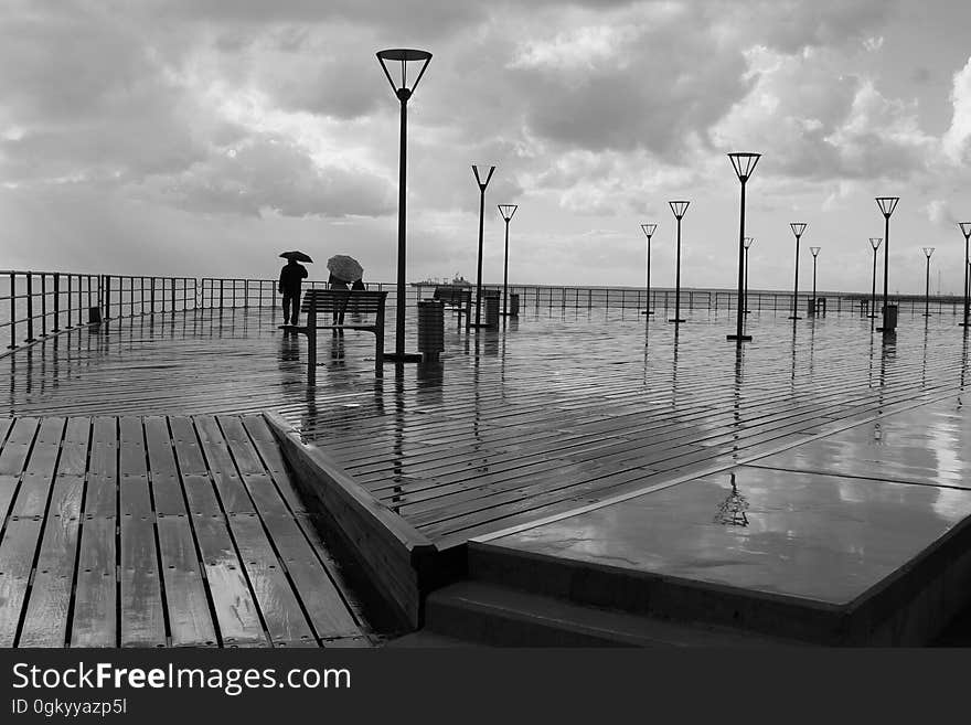
<path id="1" fill-rule="evenodd" d="M 384 359 L 388 362 L 420 362 L 420 354 L 405 353 L 405 218 L 406 218 L 406 200 L 407 200 L 407 148 L 408 148 L 408 99 L 418 87 L 418 82 L 425 75 L 425 68 L 431 60 L 431 53 L 428 51 L 416 51 L 408 49 L 392 49 L 387 51 L 378 51 L 377 61 L 381 63 L 381 70 L 387 76 L 392 89 L 395 92 L 402 104 L 402 130 L 401 130 L 401 152 L 398 157 L 398 279 L 397 279 L 397 297 L 395 299 L 395 351 L 385 353 Z M 387 70 L 388 61 L 401 63 L 402 83 L 398 86 Z M 415 76 L 412 87 L 408 87 L 407 67 L 408 63 L 420 63 L 422 67 L 418 75 Z"/>

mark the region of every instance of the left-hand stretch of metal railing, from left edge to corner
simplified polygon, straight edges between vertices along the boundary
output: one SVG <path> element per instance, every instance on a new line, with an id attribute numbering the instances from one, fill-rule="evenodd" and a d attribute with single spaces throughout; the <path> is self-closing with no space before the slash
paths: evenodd
<path id="1" fill-rule="evenodd" d="M 193 277 L 0 271 L 0 339 L 14 350 L 99 320 L 191 310 Z"/>

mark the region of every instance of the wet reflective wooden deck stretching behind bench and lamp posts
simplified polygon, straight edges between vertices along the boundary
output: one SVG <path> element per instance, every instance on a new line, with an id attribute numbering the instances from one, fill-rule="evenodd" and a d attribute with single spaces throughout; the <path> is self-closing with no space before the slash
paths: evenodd
<path id="1" fill-rule="evenodd" d="M 950 317 L 909 319 L 889 344 L 868 320 L 751 317 L 740 355 L 724 311 L 677 337 L 630 310 L 468 337 L 449 321 L 441 365 L 383 376 L 370 335 L 326 335 L 308 390 L 306 340 L 268 310 L 200 311 L 73 332 L 0 371 L 11 416 L 279 412 L 442 547 L 963 390 Z"/>

